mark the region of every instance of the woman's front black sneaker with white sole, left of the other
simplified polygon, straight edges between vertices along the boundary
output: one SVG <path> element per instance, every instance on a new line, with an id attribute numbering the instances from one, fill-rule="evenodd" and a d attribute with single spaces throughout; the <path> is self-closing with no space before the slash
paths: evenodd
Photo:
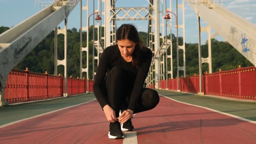
<path id="1" fill-rule="evenodd" d="M 123 132 L 121 131 L 120 123 L 116 121 L 115 123 L 109 124 L 108 138 L 110 139 L 121 139 L 125 138 Z"/>

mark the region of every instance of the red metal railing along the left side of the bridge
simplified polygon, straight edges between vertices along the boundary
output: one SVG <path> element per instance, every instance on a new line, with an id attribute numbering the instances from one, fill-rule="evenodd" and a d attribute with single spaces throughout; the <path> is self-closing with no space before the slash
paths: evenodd
<path id="1" fill-rule="evenodd" d="M 68 78 L 68 94 L 85 93 L 87 81 L 85 79 Z M 93 92 L 93 81 L 89 80 L 89 92 Z M 15 103 L 19 101 L 39 100 L 62 97 L 65 93 L 65 79 L 62 76 L 30 72 L 28 69 L 12 70 L 7 79 L 5 101 Z"/>

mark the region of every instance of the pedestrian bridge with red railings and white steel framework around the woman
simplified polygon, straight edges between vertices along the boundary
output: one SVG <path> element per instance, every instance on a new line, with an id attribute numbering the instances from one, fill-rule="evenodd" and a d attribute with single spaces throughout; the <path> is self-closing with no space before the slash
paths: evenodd
<path id="1" fill-rule="evenodd" d="M 178 62 L 177 78 L 173 79 L 172 54 L 167 54 L 167 50 L 172 49 L 172 41 L 159 35 L 160 30 L 165 29 L 165 14 L 171 8 L 167 8 L 167 11 L 161 9 L 159 4 L 163 4 L 162 0 L 147 0 L 149 7 L 131 8 L 136 13 L 134 16 L 131 16 L 129 8 L 115 7 L 113 1 L 98 0 L 98 3 L 103 3 L 104 11 L 98 7 L 92 15 L 104 15 L 104 24 L 93 26 L 98 28 L 98 33 L 100 27 L 104 26 L 104 36 L 99 35 L 98 40 L 94 40 L 93 36 L 93 45 L 89 47 L 87 33 L 87 46 L 83 47 L 80 35 L 80 76 L 69 77 L 66 66 L 67 18 L 80 3 L 81 11 L 87 12 L 85 27 L 81 21 L 81 32 L 88 32 L 91 15 L 88 13 L 89 0 L 86 2 L 87 5 L 83 7 L 82 0 L 54 0 L 39 13 L 0 34 L 0 105 L 3 106 L 0 107 L 0 143 L 233 144 L 256 140 L 255 67 L 241 68 L 238 65 L 237 69 L 212 72 L 210 43 L 209 57 L 202 58 L 199 41 L 199 67 L 203 62 L 209 63 L 209 73 L 200 70 L 199 75 L 187 76 L 184 60 L 184 66 L 179 66 Z M 256 64 L 255 25 L 212 0 L 186 2 L 197 14 L 199 36 L 200 31 L 207 31 L 209 39 L 219 34 L 253 65 Z M 184 10 L 184 0 L 177 7 Z M 125 13 L 124 16 L 120 16 L 121 11 Z M 146 13 L 145 16 L 140 14 L 141 11 Z M 207 27 L 200 27 L 200 18 L 208 23 Z M 57 28 L 63 20 L 64 29 Z M 89 72 L 92 71 L 94 75 L 95 68 L 89 69 L 88 64 L 89 49 L 98 53 L 92 56 L 95 65 L 94 59 L 99 58 L 103 49 L 115 44 L 116 20 L 148 20 L 148 47 L 154 56 L 146 86 L 155 88 L 160 95 L 156 108 L 135 115 L 132 120 L 135 131 L 126 132 L 123 140 L 110 140 L 107 137 L 108 122 L 93 95 L 93 77 L 89 79 Z M 166 26 L 171 27 L 171 24 Z M 210 27 L 215 30 L 213 35 L 210 35 Z M 184 23 L 177 23 L 176 28 L 185 32 Z M 13 70 L 53 29 L 55 73 Z M 63 60 L 57 58 L 58 34 L 64 34 L 65 39 Z M 185 59 L 185 45 L 177 45 L 177 52 L 179 50 L 183 51 Z M 82 67 L 82 52 L 87 52 L 85 68 Z M 64 65 L 64 75 L 58 75 L 58 65 Z M 183 71 L 184 75 L 180 76 L 179 71 Z M 86 73 L 84 79 L 83 72 Z"/>

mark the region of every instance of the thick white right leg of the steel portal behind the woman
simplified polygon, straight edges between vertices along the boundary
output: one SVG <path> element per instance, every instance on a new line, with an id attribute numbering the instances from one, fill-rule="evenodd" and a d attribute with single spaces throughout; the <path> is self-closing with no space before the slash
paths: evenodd
<path id="1" fill-rule="evenodd" d="M 154 0 L 154 52 L 156 52 L 160 46 L 159 42 L 159 0 Z M 160 79 L 160 58 L 155 59 L 155 88 L 159 88 L 158 82 Z"/>

